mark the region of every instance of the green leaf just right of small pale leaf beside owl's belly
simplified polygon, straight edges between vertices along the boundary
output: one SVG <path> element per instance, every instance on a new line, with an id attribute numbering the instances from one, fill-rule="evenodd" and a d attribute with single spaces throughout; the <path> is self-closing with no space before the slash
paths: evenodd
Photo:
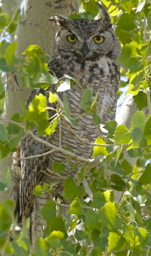
<path id="1" fill-rule="evenodd" d="M 131 136 L 125 125 L 119 125 L 115 131 L 115 143 L 116 144 L 128 144 L 130 143 Z"/>

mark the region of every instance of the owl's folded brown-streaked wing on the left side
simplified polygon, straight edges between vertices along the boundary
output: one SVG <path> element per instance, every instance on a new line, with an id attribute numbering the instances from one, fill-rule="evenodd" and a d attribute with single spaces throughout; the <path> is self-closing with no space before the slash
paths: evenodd
<path id="1" fill-rule="evenodd" d="M 42 93 L 48 98 L 48 92 L 49 90 L 32 90 L 31 95 L 27 100 L 27 107 L 34 96 Z M 53 116 L 53 114 L 53 111 L 49 112 L 49 116 Z M 36 135 L 36 127 L 34 127 L 32 132 Z M 42 140 L 48 140 L 48 137 L 41 138 Z M 18 151 L 14 153 L 14 157 L 17 157 L 20 160 L 14 160 L 12 165 L 13 185 L 11 189 L 11 198 L 16 201 L 14 213 L 18 217 L 19 223 L 22 223 L 25 218 L 29 218 L 33 211 L 35 201 L 33 191 L 36 185 L 42 183 L 42 171 L 47 170 L 48 166 L 49 156 L 43 156 L 42 154 L 49 150 L 50 148 L 47 148 L 44 144 L 33 140 L 29 134 L 25 134 L 20 142 Z M 34 157 L 36 155 L 42 156 Z"/>

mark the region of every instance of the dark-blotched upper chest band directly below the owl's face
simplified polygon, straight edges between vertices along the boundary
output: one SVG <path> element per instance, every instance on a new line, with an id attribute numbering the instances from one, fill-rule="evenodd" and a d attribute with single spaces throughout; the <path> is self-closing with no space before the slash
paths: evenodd
<path id="1" fill-rule="evenodd" d="M 68 56 L 64 57 L 64 73 L 78 80 L 83 88 L 91 86 L 98 90 L 102 81 L 116 79 L 119 72 L 116 62 L 107 56 L 100 56 L 96 61 Z"/>

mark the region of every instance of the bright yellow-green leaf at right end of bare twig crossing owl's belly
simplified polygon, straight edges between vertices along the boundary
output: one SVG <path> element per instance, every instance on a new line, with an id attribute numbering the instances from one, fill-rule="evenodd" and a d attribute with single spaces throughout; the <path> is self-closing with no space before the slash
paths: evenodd
<path id="1" fill-rule="evenodd" d="M 98 137 L 94 144 L 106 144 L 104 141 L 103 141 L 103 138 L 102 137 Z M 106 149 L 106 147 L 101 147 L 101 146 L 94 146 L 93 147 L 93 150 L 92 150 L 92 158 L 93 157 L 96 157 L 98 155 L 107 155 L 108 154 L 108 151 Z"/>

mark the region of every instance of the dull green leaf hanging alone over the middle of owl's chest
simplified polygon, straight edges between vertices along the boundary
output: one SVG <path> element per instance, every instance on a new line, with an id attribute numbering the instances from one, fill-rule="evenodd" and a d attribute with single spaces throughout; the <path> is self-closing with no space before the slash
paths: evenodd
<path id="1" fill-rule="evenodd" d="M 92 105 L 92 89 L 85 89 L 81 95 L 81 103 L 79 108 L 86 112 L 91 108 Z"/>

